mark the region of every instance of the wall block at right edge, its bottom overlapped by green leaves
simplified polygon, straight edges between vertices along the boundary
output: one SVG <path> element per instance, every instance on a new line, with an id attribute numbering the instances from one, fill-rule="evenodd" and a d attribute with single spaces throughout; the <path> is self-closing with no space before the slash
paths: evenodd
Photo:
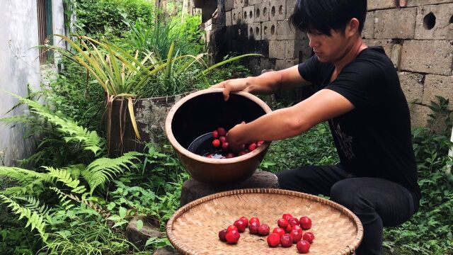
<path id="1" fill-rule="evenodd" d="M 437 103 L 436 96 L 449 98 L 449 109 L 453 110 L 453 76 L 426 75 L 422 103 L 426 106 L 430 106 L 431 101 Z"/>

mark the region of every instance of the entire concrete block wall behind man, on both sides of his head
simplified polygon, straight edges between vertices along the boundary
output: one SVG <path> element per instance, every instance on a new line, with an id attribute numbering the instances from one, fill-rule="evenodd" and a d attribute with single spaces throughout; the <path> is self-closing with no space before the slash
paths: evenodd
<path id="1" fill-rule="evenodd" d="M 215 53 L 257 52 L 255 74 L 305 61 L 305 35 L 289 26 L 296 0 L 219 0 Z M 453 0 L 368 0 L 362 33 L 367 45 L 382 45 L 394 62 L 410 102 L 412 124 L 428 125 L 431 100 L 450 98 L 453 109 Z M 219 48 L 223 50 L 219 50 Z"/>

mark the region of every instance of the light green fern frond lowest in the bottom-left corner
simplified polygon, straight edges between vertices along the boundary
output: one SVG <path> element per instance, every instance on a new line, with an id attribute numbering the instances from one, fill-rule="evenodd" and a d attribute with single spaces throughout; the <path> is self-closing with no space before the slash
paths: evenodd
<path id="1" fill-rule="evenodd" d="M 3 195 L 0 195 L 0 198 L 3 200 L 3 203 L 8 204 L 8 208 L 11 208 L 14 214 L 19 215 L 18 220 L 21 220 L 23 217 L 27 218 L 25 227 L 31 225 L 31 229 L 37 229 L 42 240 L 44 242 L 47 241 L 48 234 L 45 232 L 45 220 L 42 215 L 38 214 L 38 212 L 32 212 L 29 208 L 23 208 L 11 198 Z"/>

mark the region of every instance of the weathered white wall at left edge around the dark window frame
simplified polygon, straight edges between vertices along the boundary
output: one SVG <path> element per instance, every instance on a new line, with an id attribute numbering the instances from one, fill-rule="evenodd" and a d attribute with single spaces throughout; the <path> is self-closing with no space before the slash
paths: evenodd
<path id="1" fill-rule="evenodd" d="M 54 33 L 64 33 L 62 0 L 52 0 Z M 39 63 L 38 16 L 36 1 L 0 1 L 0 89 L 27 96 L 27 84 L 35 88 L 47 77 L 42 75 Z M 55 69 L 47 67 L 43 69 Z M 21 115 L 25 108 L 16 108 L 16 98 L 0 92 L 0 117 Z M 11 166 L 33 152 L 33 141 L 23 139 L 23 127 L 0 126 L 0 152 L 4 151 L 4 164 Z M 1 163 L 1 162 L 0 162 Z"/>

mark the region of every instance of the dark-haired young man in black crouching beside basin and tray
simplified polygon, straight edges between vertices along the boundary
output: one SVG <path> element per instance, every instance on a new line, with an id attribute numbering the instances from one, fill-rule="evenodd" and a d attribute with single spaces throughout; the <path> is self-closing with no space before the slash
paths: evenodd
<path id="1" fill-rule="evenodd" d="M 212 87 L 271 94 L 306 84 L 319 91 L 297 105 L 229 130 L 229 145 L 281 140 L 328 120 L 340 157 L 334 166 L 301 166 L 278 174 L 281 188 L 330 196 L 357 215 L 364 238 L 356 254 L 382 254 L 383 226 L 418 210 L 420 190 L 406 98 L 382 47 L 367 47 L 366 0 L 298 0 L 290 21 L 308 34 L 314 56 L 258 77 Z"/>

